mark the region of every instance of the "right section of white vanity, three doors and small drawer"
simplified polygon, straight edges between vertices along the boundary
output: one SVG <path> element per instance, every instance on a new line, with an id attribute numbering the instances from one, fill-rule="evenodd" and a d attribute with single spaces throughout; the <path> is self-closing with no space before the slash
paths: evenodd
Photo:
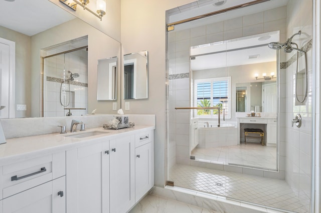
<path id="1" fill-rule="evenodd" d="M 153 130 L 119 133 L 67 150 L 67 212 L 127 212 L 153 186 L 152 141 Z"/>

